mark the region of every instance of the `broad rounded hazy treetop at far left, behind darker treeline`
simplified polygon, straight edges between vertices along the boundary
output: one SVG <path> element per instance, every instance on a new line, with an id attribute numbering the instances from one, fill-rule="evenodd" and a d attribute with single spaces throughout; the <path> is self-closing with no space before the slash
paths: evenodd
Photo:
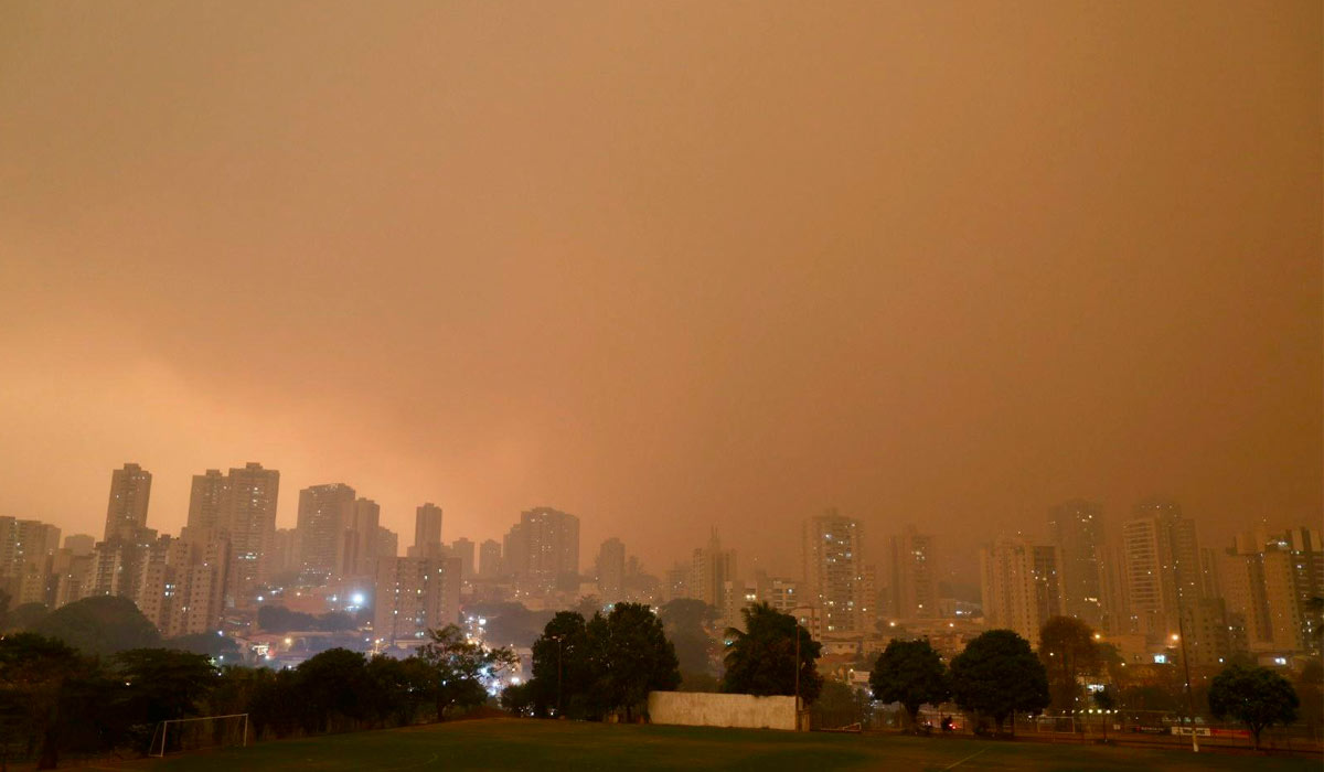
<path id="1" fill-rule="evenodd" d="M 156 628 L 127 597 L 102 595 L 61 606 L 41 618 L 34 633 L 58 638 L 85 654 L 115 654 L 160 642 Z"/>

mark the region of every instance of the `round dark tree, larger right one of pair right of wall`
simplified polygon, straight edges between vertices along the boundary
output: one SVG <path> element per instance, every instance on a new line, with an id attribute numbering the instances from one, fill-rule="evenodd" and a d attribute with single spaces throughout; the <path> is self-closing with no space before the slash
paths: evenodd
<path id="1" fill-rule="evenodd" d="M 963 710 L 990 716 L 1001 732 L 1014 711 L 1049 706 L 1049 678 L 1029 641 L 1012 630 L 989 630 L 952 659 L 952 697 Z"/>

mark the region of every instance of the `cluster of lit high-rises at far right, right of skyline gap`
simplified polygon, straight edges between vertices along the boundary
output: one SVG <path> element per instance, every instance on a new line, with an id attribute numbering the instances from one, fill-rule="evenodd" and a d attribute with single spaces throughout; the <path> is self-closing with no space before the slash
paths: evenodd
<path id="1" fill-rule="evenodd" d="M 1072 616 L 1129 662 L 1161 663 L 1184 650 L 1193 666 L 1217 667 L 1235 653 L 1284 665 L 1319 650 L 1319 531 L 1260 527 L 1223 548 L 1201 546 L 1196 522 L 1166 499 L 1140 502 L 1111 531 L 1098 505 L 1066 502 L 1050 511 L 1047 531 L 980 551 L 986 626 L 1034 641 L 1049 617 Z"/>

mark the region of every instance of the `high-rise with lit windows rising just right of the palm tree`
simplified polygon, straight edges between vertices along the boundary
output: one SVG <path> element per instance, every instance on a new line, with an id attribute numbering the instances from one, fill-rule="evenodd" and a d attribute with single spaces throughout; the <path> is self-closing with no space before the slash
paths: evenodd
<path id="1" fill-rule="evenodd" d="M 805 597 L 822 612 L 828 633 L 863 633 L 865 565 L 859 523 L 829 508 L 802 528 Z"/>

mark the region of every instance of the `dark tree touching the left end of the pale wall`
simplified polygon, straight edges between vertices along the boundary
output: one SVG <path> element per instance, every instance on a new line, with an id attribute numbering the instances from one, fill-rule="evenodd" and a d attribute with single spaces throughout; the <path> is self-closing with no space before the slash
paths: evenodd
<path id="1" fill-rule="evenodd" d="M 649 691 L 679 686 L 675 649 L 647 605 L 618 603 L 606 617 L 593 614 L 587 634 L 598 674 L 593 702 L 604 711 L 625 710 L 629 722 L 634 708 L 647 702 Z"/>

